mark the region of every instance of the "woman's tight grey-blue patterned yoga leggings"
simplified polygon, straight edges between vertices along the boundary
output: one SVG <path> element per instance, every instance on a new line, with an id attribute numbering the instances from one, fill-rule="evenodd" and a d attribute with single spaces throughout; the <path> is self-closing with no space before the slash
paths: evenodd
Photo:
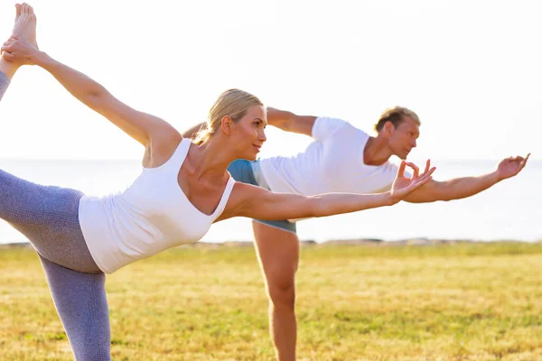
<path id="1" fill-rule="evenodd" d="M 0 72 L 0 99 L 9 79 Z M 76 360 L 110 360 L 106 275 L 79 227 L 82 193 L 22 180 L 0 170 L 0 218 L 26 236 L 40 256 L 52 299 Z"/>

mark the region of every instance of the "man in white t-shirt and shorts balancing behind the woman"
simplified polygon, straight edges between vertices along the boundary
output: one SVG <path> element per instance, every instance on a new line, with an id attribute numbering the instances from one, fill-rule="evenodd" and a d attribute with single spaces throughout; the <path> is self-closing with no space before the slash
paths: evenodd
<path id="1" fill-rule="evenodd" d="M 277 192 L 314 195 L 327 192 L 374 193 L 388 190 L 397 165 L 388 162 L 392 155 L 406 159 L 416 147 L 420 121 L 416 114 L 396 106 L 378 119 L 376 137 L 334 118 L 296 116 L 267 109 L 267 122 L 287 132 L 314 138 L 303 153 L 294 157 L 273 157 L 256 162 L 236 161 L 229 165 L 235 180 Z M 184 136 L 192 136 L 197 125 Z M 434 202 L 471 197 L 500 180 L 513 177 L 528 160 L 510 157 L 496 171 L 479 177 L 446 181 L 431 180 L 413 192 L 408 202 Z M 415 173 L 418 170 L 415 168 Z M 299 262 L 299 238 L 294 220 L 253 221 L 257 256 L 266 279 L 269 321 L 279 360 L 295 359 L 296 321 L 294 314 L 294 276 Z"/>

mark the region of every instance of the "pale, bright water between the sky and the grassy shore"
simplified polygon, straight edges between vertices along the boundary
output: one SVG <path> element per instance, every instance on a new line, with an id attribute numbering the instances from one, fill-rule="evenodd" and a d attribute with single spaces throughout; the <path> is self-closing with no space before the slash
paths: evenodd
<path id="1" fill-rule="evenodd" d="M 435 179 L 481 175 L 498 161 L 441 161 Z M 0 160 L 0 168 L 42 184 L 70 187 L 89 195 L 123 190 L 141 172 L 135 161 L 21 161 Z M 298 222 L 302 239 L 413 237 L 440 239 L 535 241 L 542 239 L 542 161 L 529 161 L 511 180 L 470 199 L 431 204 L 401 202 L 394 207 L 370 209 L 350 215 Z M 229 219 L 211 227 L 207 242 L 251 240 L 247 218 Z M 0 221 L 0 243 L 22 242 L 24 237 Z"/>

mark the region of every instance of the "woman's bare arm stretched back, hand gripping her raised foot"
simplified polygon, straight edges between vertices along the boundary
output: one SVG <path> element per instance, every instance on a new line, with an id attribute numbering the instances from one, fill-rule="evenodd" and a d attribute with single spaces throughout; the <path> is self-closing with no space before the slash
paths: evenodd
<path id="1" fill-rule="evenodd" d="M 52 59 L 29 42 L 10 38 L 2 47 L 5 60 L 38 65 L 49 71 L 73 97 L 105 116 L 137 142 L 147 146 L 153 134 L 174 131 L 163 119 L 135 110 L 113 97 L 106 88 L 78 70 Z"/>

